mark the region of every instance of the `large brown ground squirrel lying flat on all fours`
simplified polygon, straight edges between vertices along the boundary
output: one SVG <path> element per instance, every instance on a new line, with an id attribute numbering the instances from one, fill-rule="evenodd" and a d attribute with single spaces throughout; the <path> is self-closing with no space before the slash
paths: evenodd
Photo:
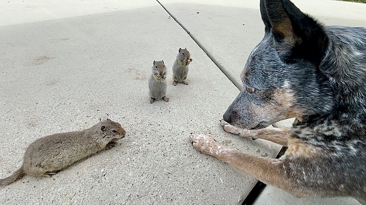
<path id="1" fill-rule="evenodd" d="M 23 156 L 23 165 L 10 177 L 0 179 L 8 185 L 24 175 L 51 176 L 124 137 L 126 131 L 110 119 L 100 121 L 89 129 L 45 136 L 31 143 Z"/>

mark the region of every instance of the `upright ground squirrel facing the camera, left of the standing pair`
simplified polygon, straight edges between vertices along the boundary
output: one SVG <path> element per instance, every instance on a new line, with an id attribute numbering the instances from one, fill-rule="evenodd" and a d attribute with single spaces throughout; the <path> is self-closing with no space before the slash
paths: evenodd
<path id="1" fill-rule="evenodd" d="M 163 99 L 165 102 L 169 101 L 167 94 L 167 67 L 164 61 L 154 61 L 152 73 L 149 79 L 149 97 L 150 103 L 156 99 Z"/>

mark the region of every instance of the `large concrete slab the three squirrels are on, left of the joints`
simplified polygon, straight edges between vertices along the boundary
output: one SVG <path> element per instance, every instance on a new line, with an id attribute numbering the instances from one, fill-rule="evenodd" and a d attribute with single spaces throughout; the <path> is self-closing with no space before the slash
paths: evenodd
<path id="1" fill-rule="evenodd" d="M 239 91 L 168 16 L 156 4 L 1 27 L 0 178 L 35 139 L 99 117 L 127 137 L 53 178 L 2 187 L 0 204 L 238 204 L 249 193 L 256 180 L 195 151 L 189 133 L 263 157 L 279 146 L 224 133 L 219 119 Z M 170 102 L 148 104 L 153 60 L 171 67 L 179 47 L 195 60 L 190 85 L 169 84 Z"/>

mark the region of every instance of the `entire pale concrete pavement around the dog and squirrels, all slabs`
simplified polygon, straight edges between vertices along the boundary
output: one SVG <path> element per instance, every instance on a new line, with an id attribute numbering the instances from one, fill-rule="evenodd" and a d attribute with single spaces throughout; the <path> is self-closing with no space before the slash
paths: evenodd
<path id="1" fill-rule="evenodd" d="M 53 178 L 25 177 L 0 188 L 1 204 L 234 205 L 247 196 L 257 181 L 197 152 L 188 136 L 205 133 L 268 158 L 280 150 L 219 126 L 239 92 L 235 85 L 247 56 L 263 36 L 259 0 L 159 1 L 201 47 L 156 0 L 0 1 L 0 178 L 19 168 L 25 148 L 42 136 L 84 129 L 99 117 L 119 121 L 127 131 L 119 146 Z M 326 24 L 366 27 L 365 4 L 294 3 Z M 149 104 L 152 62 L 164 59 L 171 68 L 179 47 L 194 59 L 189 85 L 168 84 L 171 100 Z M 314 202 L 320 201 L 268 186 L 256 205 Z"/>

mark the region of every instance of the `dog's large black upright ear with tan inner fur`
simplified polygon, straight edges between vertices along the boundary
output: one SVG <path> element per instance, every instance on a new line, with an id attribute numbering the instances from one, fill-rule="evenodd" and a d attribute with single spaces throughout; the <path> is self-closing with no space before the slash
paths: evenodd
<path id="1" fill-rule="evenodd" d="M 266 8 L 268 19 L 263 7 Z M 276 50 L 284 62 L 305 59 L 320 64 L 328 46 L 328 37 L 320 23 L 300 11 L 290 0 L 264 0 L 264 4 L 262 0 L 261 13 L 266 27 L 272 31 Z"/>

